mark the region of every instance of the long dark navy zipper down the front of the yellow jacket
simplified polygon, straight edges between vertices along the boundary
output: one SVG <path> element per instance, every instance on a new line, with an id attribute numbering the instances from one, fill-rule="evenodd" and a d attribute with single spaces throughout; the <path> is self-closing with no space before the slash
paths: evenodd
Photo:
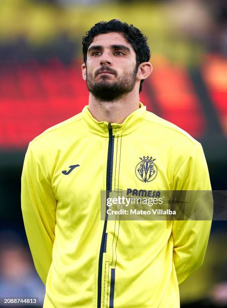
<path id="1" fill-rule="evenodd" d="M 112 190 L 112 175 L 113 175 L 113 150 L 114 150 L 114 136 L 110 123 L 108 123 L 109 129 L 109 144 L 108 144 L 108 156 L 107 156 L 107 170 L 106 170 L 106 199 L 109 198 L 109 191 Z M 106 205 L 107 206 L 107 205 Z M 102 269 L 103 269 L 103 253 L 105 250 L 105 238 L 107 227 L 108 214 L 106 211 L 106 217 L 103 227 L 103 235 L 99 253 L 99 273 L 98 273 L 98 301 L 97 308 L 101 308 L 101 296 L 102 296 Z"/>

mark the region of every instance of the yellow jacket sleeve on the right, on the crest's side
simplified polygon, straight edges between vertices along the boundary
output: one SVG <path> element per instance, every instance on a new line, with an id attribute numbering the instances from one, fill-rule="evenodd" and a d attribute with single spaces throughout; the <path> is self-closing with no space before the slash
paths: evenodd
<path id="1" fill-rule="evenodd" d="M 174 178 L 175 190 L 211 190 L 208 169 L 201 144 L 196 144 Z M 202 207 L 210 206 L 203 201 Z M 211 202 L 212 203 L 212 202 Z M 209 239 L 212 205 L 209 220 L 175 220 L 172 236 L 173 259 L 178 283 L 184 282 L 203 263 Z M 201 219 L 201 218 L 200 218 Z M 205 218 L 204 218 L 205 219 Z"/>

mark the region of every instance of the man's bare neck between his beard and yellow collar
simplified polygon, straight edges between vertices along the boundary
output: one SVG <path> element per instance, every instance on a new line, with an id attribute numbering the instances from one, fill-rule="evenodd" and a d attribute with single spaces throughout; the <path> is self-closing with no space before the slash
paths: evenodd
<path id="1" fill-rule="evenodd" d="M 119 100 L 111 102 L 99 101 L 90 93 L 88 108 L 99 122 L 121 124 L 129 114 L 139 108 L 139 93 L 131 91 Z"/>

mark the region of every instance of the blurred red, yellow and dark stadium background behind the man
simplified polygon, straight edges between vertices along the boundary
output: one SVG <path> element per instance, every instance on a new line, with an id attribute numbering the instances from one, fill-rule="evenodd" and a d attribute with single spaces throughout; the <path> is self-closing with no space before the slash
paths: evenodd
<path id="1" fill-rule="evenodd" d="M 24 156 L 35 136 L 88 104 L 82 37 L 113 18 L 148 37 L 154 71 L 140 100 L 201 142 L 212 189 L 227 190 L 227 1 L 1 0 L 0 297 L 42 305 L 21 214 Z M 204 264 L 180 295 L 182 307 L 227 306 L 226 221 L 213 222 Z"/>

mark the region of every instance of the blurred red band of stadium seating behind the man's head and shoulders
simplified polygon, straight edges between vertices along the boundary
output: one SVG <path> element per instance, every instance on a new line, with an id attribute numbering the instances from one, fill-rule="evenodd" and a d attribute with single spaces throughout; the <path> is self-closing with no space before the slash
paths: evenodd
<path id="1" fill-rule="evenodd" d="M 227 133 L 227 60 L 208 56 L 201 70 L 207 91 Z M 187 66 L 167 59 L 154 63 L 140 100 L 152 111 L 199 138 L 208 132 L 209 119 L 193 87 Z M 79 113 L 88 104 L 79 60 L 64 65 L 59 59 L 3 63 L 0 72 L 1 148 L 25 149 L 46 128 Z M 209 130 L 210 132 L 210 130 Z"/>

